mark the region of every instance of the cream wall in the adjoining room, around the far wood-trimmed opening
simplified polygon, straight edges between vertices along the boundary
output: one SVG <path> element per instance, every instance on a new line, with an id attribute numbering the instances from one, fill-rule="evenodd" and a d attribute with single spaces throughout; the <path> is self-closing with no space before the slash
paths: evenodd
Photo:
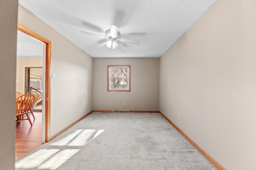
<path id="1" fill-rule="evenodd" d="M 16 63 L 16 91 L 24 94 L 25 67 L 43 66 L 43 59 L 17 59 Z"/>

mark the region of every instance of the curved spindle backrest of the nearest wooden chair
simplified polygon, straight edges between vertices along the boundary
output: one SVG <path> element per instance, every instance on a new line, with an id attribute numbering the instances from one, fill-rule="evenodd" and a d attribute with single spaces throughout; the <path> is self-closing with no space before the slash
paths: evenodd
<path id="1" fill-rule="evenodd" d="M 16 98 L 16 116 L 30 112 L 35 96 L 33 94 L 23 94 Z"/>

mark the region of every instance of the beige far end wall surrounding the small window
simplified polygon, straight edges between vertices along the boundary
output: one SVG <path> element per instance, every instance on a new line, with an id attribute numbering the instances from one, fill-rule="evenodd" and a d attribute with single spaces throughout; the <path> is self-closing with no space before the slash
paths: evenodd
<path id="1" fill-rule="evenodd" d="M 108 65 L 131 65 L 131 92 L 107 92 Z M 94 58 L 93 109 L 158 111 L 159 58 Z"/>

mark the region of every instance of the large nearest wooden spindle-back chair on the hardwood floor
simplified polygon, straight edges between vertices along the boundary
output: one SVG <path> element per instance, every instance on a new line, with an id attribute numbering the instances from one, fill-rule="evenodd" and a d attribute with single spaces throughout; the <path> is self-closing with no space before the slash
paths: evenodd
<path id="1" fill-rule="evenodd" d="M 28 113 L 30 112 L 34 100 L 35 96 L 33 94 L 24 94 L 16 98 L 16 124 L 20 125 L 21 121 L 28 120 L 32 126 Z"/>

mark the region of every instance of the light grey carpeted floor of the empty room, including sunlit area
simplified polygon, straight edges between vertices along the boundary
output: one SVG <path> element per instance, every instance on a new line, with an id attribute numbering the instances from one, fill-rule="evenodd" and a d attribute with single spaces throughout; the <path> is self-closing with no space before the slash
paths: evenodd
<path id="1" fill-rule="evenodd" d="M 16 170 L 217 170 L 159 113 L 94 112 Z"/>

